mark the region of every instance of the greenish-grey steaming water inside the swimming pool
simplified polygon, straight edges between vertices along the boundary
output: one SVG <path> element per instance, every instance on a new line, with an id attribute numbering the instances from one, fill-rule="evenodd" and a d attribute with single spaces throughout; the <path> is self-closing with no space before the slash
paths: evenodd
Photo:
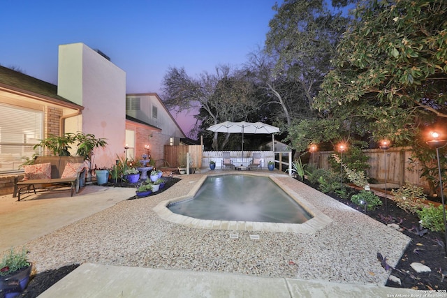
<path id="1" fill-rule="evenodd" d="M 196 195 L 168 209 L 198 219 L 305 223 L 312 216 L 268 177 L 228 174 L 207 177 Z"/>

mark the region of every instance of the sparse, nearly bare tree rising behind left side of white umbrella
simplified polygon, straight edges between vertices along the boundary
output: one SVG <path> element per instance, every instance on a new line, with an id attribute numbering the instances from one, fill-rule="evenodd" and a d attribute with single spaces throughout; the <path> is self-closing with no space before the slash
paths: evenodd
<path id="1" fill-rule="evenodd" d="M 216 73 L 202 73 L 198 78 L 189 77 L 184 68 L 169 68 L 163 78 L 163 103 L 177 110 L 200 110 L 196 118 L 202 126 L 222 121 L 240 121 L 258 108 L 254 86 L 240 70 L 219 66 Z M 221 144 L 214 133 L 212 147 L 225 146 L 229 134 Z"/>

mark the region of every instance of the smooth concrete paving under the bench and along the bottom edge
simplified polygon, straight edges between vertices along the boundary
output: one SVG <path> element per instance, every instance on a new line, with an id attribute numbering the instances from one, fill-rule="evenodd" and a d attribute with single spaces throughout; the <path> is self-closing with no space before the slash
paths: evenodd
<path id="1" fill-rule="evenodd" d="M 199 175 L 183 177 L 183 187 L 189 186 Z M 173 186 L 176 187 L 177 184 Z M 0 251 L 29 242 L 38 244 L 39 239 L 70 229 L 71 225 L 101 214 L 132 195 L 132 188 L 87 186 L 73 198 L 68 191 L 24 195 L 20 202 L 12 195 L 2 196 Z M 60 264 L 63 265 L 66 264 Z M 397 297 L 419 294 L 423 293 L 372 283 L 333 283 L 83 262 L 40 297 Z"/>

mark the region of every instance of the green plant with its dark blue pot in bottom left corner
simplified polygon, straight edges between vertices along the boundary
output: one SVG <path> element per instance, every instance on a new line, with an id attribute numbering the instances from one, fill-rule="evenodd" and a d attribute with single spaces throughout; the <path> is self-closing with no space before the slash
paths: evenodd
<path id="1" fill-rule="evenodd" d="M 25 248 L 22 248 L 20 253 L 10 249 L 0 262 L 0 294 L 4 294 L 2 297 L 16 297 L 27 288 L 31 267 Z"/>

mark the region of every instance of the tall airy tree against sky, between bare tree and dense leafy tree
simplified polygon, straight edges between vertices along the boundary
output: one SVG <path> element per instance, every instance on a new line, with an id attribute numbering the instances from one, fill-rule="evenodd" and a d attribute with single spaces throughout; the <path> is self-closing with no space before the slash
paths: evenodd
<path id="1" fill-rule="evenodd" d="M 342 6 L 341 2 L 337 5 Z M 347 19 L 323 0 L 286 0 L 273 9 L 277 14 L 270 20 L 265 42 L 273 65 L 266 65 L 270 71 L 264 72 L 263 82 L 270 103 L 281 106 L 283 121 L 291 126 L 292 119 L 314 116 L 314 97 L 330 70 L 330 59 L 335 56 Z"/>

